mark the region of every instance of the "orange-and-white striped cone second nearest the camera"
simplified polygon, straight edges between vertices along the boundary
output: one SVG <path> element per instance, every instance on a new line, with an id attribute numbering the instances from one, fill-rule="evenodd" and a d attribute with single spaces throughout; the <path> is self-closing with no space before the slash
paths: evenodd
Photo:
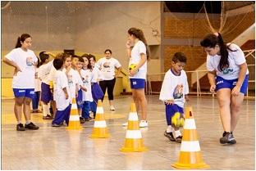
<path id="1" fill-rule="evenodd" d="M 126 130 L 125 146 L 121 147 L 120 151 L 123 152 L 141 152 L 148 151 L 144 146 L 141 132 L 139 130 L 138 115 L 136 112 L 135 103 L 130 105 L 130 114 L 128 119 L 128 126 Z"/>

